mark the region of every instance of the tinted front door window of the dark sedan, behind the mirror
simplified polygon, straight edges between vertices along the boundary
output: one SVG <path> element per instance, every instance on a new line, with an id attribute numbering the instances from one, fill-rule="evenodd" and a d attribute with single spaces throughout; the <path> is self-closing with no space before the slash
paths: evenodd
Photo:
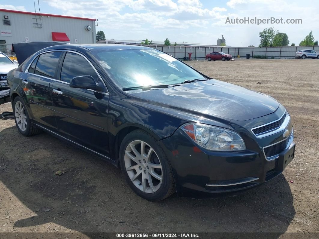
<path id="1" fill-rule="evenodd" d="M 98 79 L 98 75 L 86 59 L 76 53 L 67 52 L 62 65 L 60 80 L 69 83 L 72 78 L 84 75 L 92 76 L 95 81 Z"/>

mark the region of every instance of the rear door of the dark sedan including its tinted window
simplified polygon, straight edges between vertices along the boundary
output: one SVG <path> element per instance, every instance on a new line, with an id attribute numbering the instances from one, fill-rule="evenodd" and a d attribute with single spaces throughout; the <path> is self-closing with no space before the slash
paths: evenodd
<path id="1" fill-rule="evenodd" d="M 37 56 L 22 75 L 22 85 L 30 105 L 32 118 L 45 128 L 56 131 L 51 87 L 57 75 L 62 51 L 51 51 Z"/>

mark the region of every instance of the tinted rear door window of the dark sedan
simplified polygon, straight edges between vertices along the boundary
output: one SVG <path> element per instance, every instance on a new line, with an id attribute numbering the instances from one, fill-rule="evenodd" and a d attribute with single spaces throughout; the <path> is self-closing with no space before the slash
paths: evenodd
<path id="1" fill-rule="evenodd" d="M 39 56 L 34 74 L 54 78 L 61 52 L 48 52 Z"/>

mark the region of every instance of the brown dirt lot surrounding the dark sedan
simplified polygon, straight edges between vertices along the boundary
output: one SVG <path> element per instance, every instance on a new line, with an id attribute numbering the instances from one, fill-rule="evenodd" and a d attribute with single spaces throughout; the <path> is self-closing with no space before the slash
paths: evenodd
<path id="1" fill-rule="evenodd" d="M 87 238 L 91 232 L 276 232 L 269 236 L 318 238 L 319 61 L 189 63 L 210 77 L 269 94 L 288 109 L 297 147 L 283 175 L 235 197 L 148 202 L 130 190 L 120 169 L 46 133 L 23 137 L 13 120 L 0 120 L 0 232 L 12 232 L 0 238 Z M 0 106 L 0 112 L 11 110 L 10 103 Z M 58 169 L 65 174 L 54 175 Z"/>

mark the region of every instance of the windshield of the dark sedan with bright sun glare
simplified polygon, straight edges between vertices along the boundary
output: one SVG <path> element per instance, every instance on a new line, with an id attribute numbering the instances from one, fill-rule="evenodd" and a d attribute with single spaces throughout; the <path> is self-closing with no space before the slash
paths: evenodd
<path id="1" fill-rule="evenodd" d="M 93 54 L 122 88 L 204 79 L 188 65 L 155 49 L 106 50 Z"/>

